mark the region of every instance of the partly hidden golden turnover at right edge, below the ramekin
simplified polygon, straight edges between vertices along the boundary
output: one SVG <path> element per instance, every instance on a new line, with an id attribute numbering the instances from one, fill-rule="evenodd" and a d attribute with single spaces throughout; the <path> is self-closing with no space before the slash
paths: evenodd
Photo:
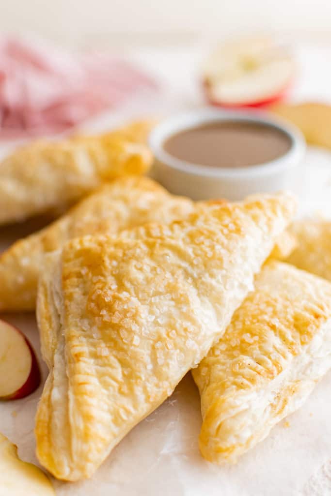
<path id="1" fill-rule="evenodd" d="M 331 221 L 296 221 L 290 233 L 296 238 L 296 248 L 286 261 L 331 281 Z"/>

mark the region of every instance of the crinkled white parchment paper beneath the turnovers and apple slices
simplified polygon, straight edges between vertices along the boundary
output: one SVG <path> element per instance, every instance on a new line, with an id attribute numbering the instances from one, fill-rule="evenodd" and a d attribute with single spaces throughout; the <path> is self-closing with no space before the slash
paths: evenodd
<path id="1" fill-rule="evenodd" d="M 311 150 L 303 177 L 305 179 L 300 185 L 302 211 L 311 211 L 316 207 L 331 215 L 329 154 Z M 315 196 L 309 196 L 309 191 L 315 191 Z M 21 226 L 20 232 L 2 229 L 0 248 L 31 228 Z M 38 332 L 32 314 L 1 317 L 17 325 L 39 353 Z M 40 355 L 39 360 L 42 365 Z M 43 365 L 42 372 L 45 379 L 47 370 Z M 18 445 L 23 459 L 34 463 L 37 463 L 34 454 L 34 415 L 41 391 L 42 386 L 28 398 L 0 403 L 0 432 Z M 299 411 L 275 427 L 268 438 L 243 456 L 236 466 L 218 467 L 204 461 L 199 454 L 199 394 L 188 374 L 173 395 L 113 450 L 92 479 L 74 484 L 52 479 L 56 494 L 309 495 L 309 480 L 331 459 L 330 391 L 331 373 L 321 381 Z M 323 493 L 323 496 L 327 494 Z"/>

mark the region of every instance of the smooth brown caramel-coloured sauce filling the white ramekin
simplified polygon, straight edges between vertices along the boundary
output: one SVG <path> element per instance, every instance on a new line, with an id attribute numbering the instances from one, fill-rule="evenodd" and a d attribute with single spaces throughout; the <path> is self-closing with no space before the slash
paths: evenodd
<path id="1" fill-rule="evenodd" d="M 291 148 L 282 130 L 249 121 L 215 121 L 181 130 L 163 143 L 173 157 L 207 167 L 241 168 L 264 164 Z"/>

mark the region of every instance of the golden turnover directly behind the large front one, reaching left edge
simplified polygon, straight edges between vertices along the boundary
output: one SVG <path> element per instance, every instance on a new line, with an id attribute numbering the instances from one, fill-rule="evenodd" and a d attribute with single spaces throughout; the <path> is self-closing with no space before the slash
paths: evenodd
<path id="1" fill-rule="evenodd" d="M 86 234 L 118 234 L 149 221 L 186 217 L 194 203 L 172 196 L 151 179 L 130 176 L 101 186 L 59 220 L 0 255 L 0 310 L 32 310 L 45 254 Z"/>

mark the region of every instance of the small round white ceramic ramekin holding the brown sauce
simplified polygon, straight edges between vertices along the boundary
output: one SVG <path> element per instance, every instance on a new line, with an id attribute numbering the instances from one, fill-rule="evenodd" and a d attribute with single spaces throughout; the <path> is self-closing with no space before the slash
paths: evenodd
<path id="1" fill-rule="evenodd" d="M 163 143 L 173 134 L 215 121 L 242 121 L 265 124 L 283 131 L 291 146 L 281 157 L 245 168 L 215 168 L 197 165 L 173 157 Z M 237 112 L 200 109 L 171 117 L 158 124 L 149 138 L 155 161 L 151 176 L 170 192 L 190 196 L 195 200 L 211 198 L 242 199 L 251 193 L 293 189 L 298 177 L 297 166 L 305 153 L 305 141 L 300 131 L 282 121 L 258 112 Z"/>

